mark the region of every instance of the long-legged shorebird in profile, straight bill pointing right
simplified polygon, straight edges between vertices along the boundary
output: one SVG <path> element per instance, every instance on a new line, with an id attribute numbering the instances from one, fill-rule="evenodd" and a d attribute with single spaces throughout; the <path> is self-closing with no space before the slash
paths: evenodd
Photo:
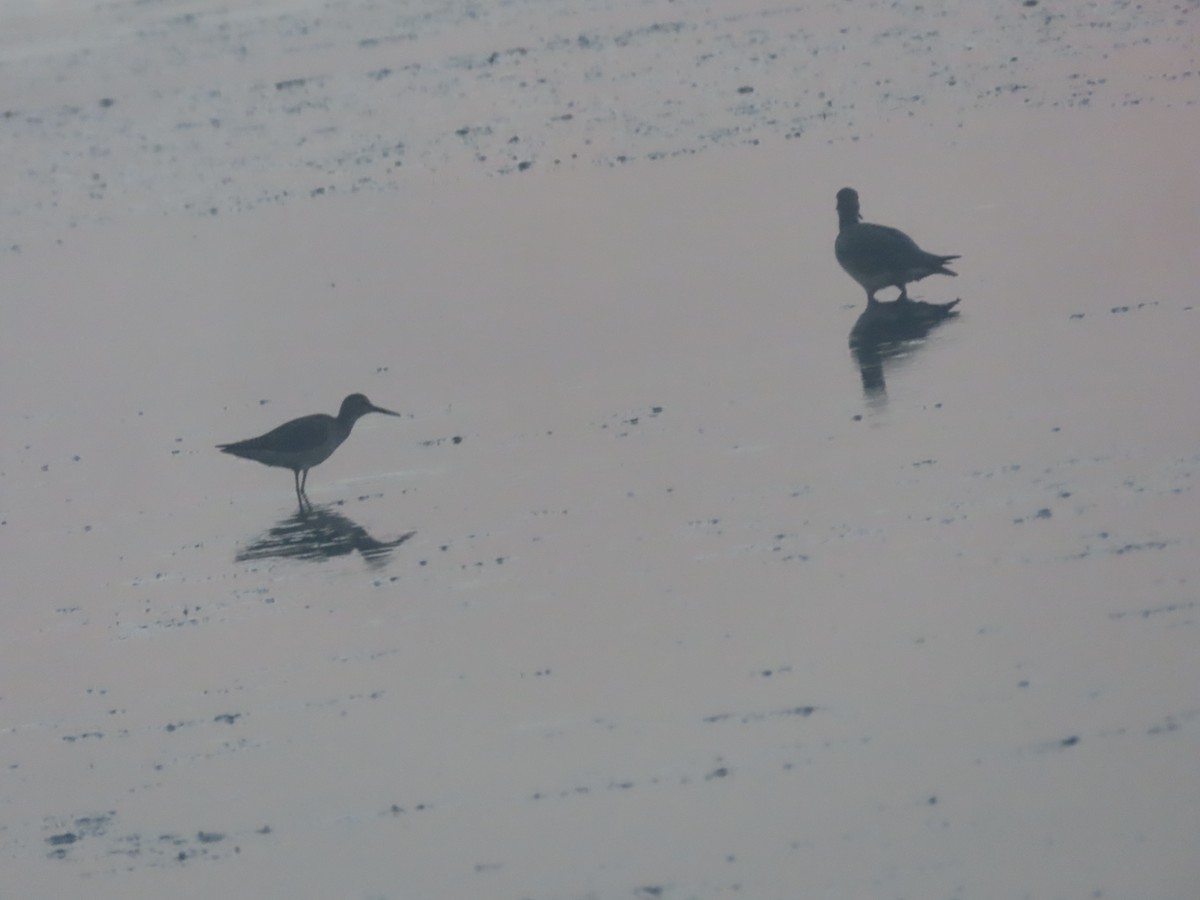
<path id="1" fill-rule="evenodd" d="M 241 456 L 245 460 L 254 460 L 264 466 L 292 469 L 296 486 L 296 500 L 300 503 L 300 509 L 304 510 L 305 503 L 308 500 L 304 490 L 308 481 L 308 469 L 325 462 L 350 436 L 354 422 L 367 413 L 400 415 L 400 413 L 374 406 L 362 394 L 352 394 L 342 401 L 342 408 L 336 416 L 324 413 L 302 415 L 299 419 L 283 422 L 280 427 L 257 438 L 239 440 L 234 444 L 217 444 L 217 450 Z M 304 473 L 302 478 L 300 473 Z M 308 503 L 308 506 L 312 508 L 312 503 Z"/>

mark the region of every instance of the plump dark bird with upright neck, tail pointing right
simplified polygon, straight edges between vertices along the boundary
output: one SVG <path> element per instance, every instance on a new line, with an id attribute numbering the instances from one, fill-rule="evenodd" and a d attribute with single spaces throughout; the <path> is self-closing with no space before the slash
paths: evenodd
<path id="1" fill-rule="evenodd" d="M 887 226 L 860 221 L 858 191 L 844 187 L 838 192 L 838 240 L 834 254 L 846 274 L 863 286 L 868 306 L 877 302 L 875 292 L 880 288 L 900 288 L 896 300 L 907 300 L 910 281 L 920 281 L 928 275 L 956 276 L 946 268 L 959 256 L 926 253 L 904 232 Z"/>

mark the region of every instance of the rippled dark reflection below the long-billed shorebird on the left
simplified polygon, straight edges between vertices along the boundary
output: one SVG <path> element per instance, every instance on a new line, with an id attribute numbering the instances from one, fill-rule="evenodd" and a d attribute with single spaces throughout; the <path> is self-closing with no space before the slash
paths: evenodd
<path id="1" fill-rule="evenodd" d="M 390 541 L 367 534 L 358 522 L 328 506 L 313 506 L 293 512 L 271 526 L 268 532 L 238 552 L 236 562 L 251 559 L 322 560 L 342 557 L 354 551 L 372 566 L 383 565 L 388 554 L 416 532 L 408 532 Z"/>

